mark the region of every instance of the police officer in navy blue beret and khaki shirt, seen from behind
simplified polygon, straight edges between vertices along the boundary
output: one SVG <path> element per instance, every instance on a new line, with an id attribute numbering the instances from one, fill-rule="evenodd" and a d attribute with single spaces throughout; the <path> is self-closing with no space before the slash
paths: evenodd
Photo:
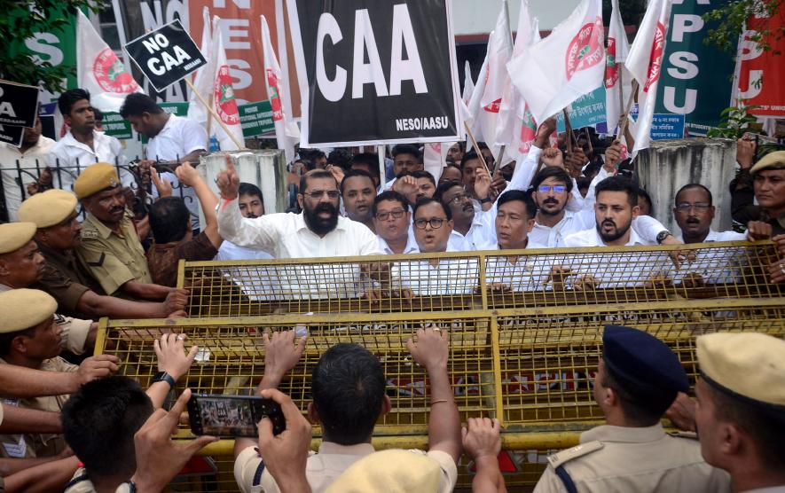
<path id="1" fill-rule="evenodd" d="M 535 493 L 730 491 L 728 475 L 701 457 L 694 437 L 671 436 L 660 419 L 689 390 L 679 358 L 654 336 L 607 325 L 594 378 L 606 425 L 581 434 L 580 445 L 548 458 Z"/>

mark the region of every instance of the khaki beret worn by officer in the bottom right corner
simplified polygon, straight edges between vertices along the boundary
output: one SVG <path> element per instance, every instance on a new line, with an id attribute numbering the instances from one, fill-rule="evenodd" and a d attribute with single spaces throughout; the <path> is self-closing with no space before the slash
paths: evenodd
<path id="1" fill-rule="evenodd" d="M 697 356 L 713 387 L 785 411 L 785 340 L 763 333 L 712 333 L 698 337 Z"/>

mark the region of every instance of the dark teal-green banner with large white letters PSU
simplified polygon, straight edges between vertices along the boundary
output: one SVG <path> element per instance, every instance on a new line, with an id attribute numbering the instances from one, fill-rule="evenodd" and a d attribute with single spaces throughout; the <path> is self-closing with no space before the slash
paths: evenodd
<path id="1" fill-rule="evenodd" d="M 727 2 L 684 0 L 672 6 L 655 113 L 684 114 L 690 135 L 705 135 L 717 126 L 719 113 L 730 105 L 734 60 L 730 54 L 703 44 L 706 33 L 716 24 L 707 24 L 702 17 Z"/>

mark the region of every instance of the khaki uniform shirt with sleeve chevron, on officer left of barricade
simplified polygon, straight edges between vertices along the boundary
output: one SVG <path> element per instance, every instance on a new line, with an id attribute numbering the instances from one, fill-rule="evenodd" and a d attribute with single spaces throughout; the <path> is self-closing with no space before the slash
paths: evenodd
<path id="1" fill-rule="evenodd" d="M 116 293 L 128 281 L 153 283 L 130 212 L 126 212 L 119 226 L 117 233 L 88 214 L 82 223 L 82 245 L 76 248 L 79 260 L 106 294 Z"/>

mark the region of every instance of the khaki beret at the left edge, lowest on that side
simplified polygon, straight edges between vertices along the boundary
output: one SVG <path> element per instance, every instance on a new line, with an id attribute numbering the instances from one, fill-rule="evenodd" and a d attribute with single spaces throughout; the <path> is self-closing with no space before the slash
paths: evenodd
<path id="1" fill-rule="evenodd" d="M 15 333 L 50 319 L 58 302 L 37 289 L 12 289 L 0 293 L 0 333 Z"/>

